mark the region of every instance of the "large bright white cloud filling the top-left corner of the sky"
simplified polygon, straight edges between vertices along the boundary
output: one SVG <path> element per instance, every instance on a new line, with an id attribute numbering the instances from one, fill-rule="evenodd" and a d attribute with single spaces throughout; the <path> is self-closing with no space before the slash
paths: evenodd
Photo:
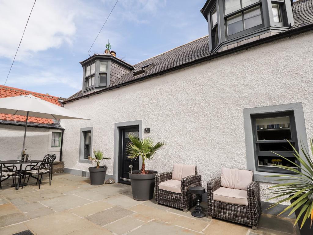
<path id="1" fill-rule="evenodd" d="M 0 1 L 0 56 L 13 59 L 22 37 L 33 0 Z M 27 60 L 38 51 L 71 45 L 76 26 L 74 17 L 83 12 L 76 1 L 37 1 L 30 16 L 16 60 Z"/>

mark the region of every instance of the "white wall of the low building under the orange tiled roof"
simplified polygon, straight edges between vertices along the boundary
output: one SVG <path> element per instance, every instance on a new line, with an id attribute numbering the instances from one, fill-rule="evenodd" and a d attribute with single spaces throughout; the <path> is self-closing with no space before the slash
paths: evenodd
<path id="1" fill-rule="evenodd" d="M 17 159 L 23 149 L 25 128 L 22 126 L 0 125 L 0 159 Z M 60 148 L 51 148 L 52 132 L 61 130 L 27 127 L 25 149 L 32 159 L 43 159 L 46 154 L 56 154 L 59 161 Z"/>

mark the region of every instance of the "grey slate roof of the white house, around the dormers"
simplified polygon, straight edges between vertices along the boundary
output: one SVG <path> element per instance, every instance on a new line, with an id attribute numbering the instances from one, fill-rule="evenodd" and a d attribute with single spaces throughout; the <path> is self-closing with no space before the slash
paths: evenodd
<path id="1" fill-rule="evenodd" d="M 307 24 L 313 24 L 313 0 L 299 0 L 293 3 L 293 16 L 295 25 L 292 28 L 297 28 Z M 138 78 L 144 78 L 149 75 L 156 75 L 158 72 L 164 70 L 170 70 L 171 68 L 184 65 L 193 61 L 200 60 L 210 55 L 209 50 L 209 40 L 208 36 L 196 39 L 192 42 L 184 44 L 182 46 L 176 47 L 172 50 L 164 52 L 160 55 L 156 55 L 150 59 L 144 60 L 136 65 L 136 69 L 131 70 L 129 73 L 124 75 L 121 79 L 110 84 L 106 89 L 110 90 L 110 87 L 115 87 L 125 82 L 130 82 L 132 80 L 137 80 Z M 134 72 L 141 70 L 141 67 L 154 63 L 150 70 L 145 73 L 141 73 L 134 76 Z M 74 95 L 70 96 L 68 100 L 79 98 L 84 96 L 82 90 L 76 92 Z"/>

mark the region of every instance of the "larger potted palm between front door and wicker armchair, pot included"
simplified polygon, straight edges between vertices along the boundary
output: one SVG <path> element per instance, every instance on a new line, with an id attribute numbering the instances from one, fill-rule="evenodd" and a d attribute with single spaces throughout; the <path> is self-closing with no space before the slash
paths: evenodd
<path id="1" fill-rule="evenodd" d="M 155 178 L 157 171 L 146 170 L 146 159 L 152 160 L 158 149 L 165 145 L 164 142 L 153 143 L 150 137 L 139 139 L 134 134 L 128 134 L 131 140 L 127 144 L 127 154 L 130 159 L 142 159 L 141 170 L 130 171 L 129 178 L 131 179 L 131 191 L 133 198 L 137 201 L 147 201 L 153 198 Z"/>

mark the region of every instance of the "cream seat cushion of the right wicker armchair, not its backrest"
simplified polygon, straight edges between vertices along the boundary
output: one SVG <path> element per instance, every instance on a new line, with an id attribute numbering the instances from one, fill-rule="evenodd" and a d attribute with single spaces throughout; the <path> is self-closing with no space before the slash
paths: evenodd
<path id="1" fill-rule="evenodd" d="M 246 190 L 220 187 L 213 192 L 213 200 L 248 206 L 248 195 Z"/>

